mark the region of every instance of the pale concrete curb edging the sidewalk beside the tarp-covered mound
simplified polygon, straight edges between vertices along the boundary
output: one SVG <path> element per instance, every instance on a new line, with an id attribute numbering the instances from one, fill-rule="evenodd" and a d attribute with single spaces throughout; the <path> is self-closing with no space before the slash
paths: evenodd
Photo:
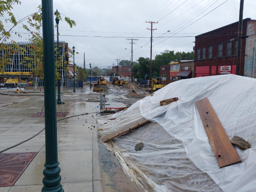
<path id="1" fill-rule="evenodd" d="M 95 104 L 95 112 L 99 112 L 97 104 Z M 97 121 L 95 119 L 95 128 L 92 132 L 92 181 L 93 192 L 104 192 L 102 183 L 102 169 L 100 163 L 99 149 L 98 149 L 98 137 L 97 137 Z"/>

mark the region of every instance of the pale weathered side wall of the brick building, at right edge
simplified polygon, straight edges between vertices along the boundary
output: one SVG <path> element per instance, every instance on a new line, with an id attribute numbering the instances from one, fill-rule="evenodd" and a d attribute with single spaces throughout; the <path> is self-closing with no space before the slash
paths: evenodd
<path id="1" fill-rule="evenodd" d="M 251 20 L 247 25 L 246 35 L 256 34 L 256 20 Z M 246 38 L 246 48 L 245 48 L 245 61 L 244 61 L 244 76 L 256 78 L 255 73 L 255 48 L 256 48 L 256 35 Z M 254 70 L 254 73 L 253 73 Z"/>

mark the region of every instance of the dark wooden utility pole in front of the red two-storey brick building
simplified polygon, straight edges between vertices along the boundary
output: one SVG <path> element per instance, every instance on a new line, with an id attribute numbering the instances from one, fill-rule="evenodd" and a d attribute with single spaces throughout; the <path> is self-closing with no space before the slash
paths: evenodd
<path id="1" fill-rule="evenodd" d="M 237 57 L 236 57 L 236 75 L 240 75 L 241 67 L 241 52 L 242 52 L 242 33 L 243 33 L 243 1 L 240 0 L 239 22 L 238 22 L 238 42 L 237 42 Z"/>

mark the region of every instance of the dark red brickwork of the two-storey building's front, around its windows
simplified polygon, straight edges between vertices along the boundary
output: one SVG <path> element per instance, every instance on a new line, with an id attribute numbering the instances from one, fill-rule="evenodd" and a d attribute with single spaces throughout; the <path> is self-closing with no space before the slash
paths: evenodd
<path id="1" fill-rule="evenodd" d="M 251 19 L 243 19 L 243 35 L 247 34 L 247 26 Z M 232 42 L 231 56 L 226 56 L 226 43 L 237 38 L 238 22 L 215 29 L 213 31 L 197 35 L 195 40 L 195 61 L 194 61 L 194 77 L 196 77 L 196 67 L 210 66 L 209 75 L 211 73 L 211 66 L 223 66 L 236 64 L 235 41 Z M 218 45 L 223 44 L 222 57 L 218 57 Z M 212 58 L 208 58 L 208 48 L 213 47 Z M 206 48 L 205 59 L 202 59 L 202 48 Z M 197 49 L 200 49 L 200 60 L 197 60 Z M 241 70 L 240 74 L 244 75 L 244 64 L 246 55 L 246 38 L 242 38 L 242 56 L 241 56 Z M 214 67 L 215 68 L 215 67 Z M 218 67 L 216 67 L 216 70 Z M 247 72 L 246 72 L 247 73 Z M 218 74 L 218 71 L 216 71 Z"/>

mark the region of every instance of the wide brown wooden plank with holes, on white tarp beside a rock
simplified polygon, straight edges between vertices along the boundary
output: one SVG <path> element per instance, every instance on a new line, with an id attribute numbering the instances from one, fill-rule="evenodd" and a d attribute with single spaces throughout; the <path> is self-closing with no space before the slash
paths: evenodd
<path id="1" fill-rule="evenodd" d="M 220 168 L 241 163 L 208 98 L 197 101 L 196 106 Z"/>

